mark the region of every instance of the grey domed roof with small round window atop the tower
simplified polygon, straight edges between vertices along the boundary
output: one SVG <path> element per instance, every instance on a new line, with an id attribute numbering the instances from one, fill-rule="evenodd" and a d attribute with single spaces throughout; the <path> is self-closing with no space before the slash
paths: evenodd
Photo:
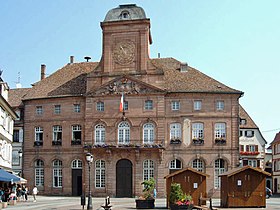
<path id="1" fill-rule="evenodd" d="M 111 9 L 106 14 L 104 22 L 139 19 L 146 19 L 145 11 L 136 4 L 124 4 Z"/>

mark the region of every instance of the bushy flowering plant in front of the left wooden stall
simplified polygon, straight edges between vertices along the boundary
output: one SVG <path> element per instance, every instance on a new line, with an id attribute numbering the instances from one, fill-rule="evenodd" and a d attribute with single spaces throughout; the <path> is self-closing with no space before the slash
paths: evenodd
<path id="1" fill-rule="evenodd" d="M 178 183 L 171 184 L 169 207 L 171 210 L 193 209 L 192 196 L 184 193 Z"/>

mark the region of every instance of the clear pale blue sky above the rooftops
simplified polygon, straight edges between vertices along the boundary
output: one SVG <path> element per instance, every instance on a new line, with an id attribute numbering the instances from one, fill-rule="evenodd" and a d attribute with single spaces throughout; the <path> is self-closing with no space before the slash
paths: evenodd
<path id="1" fill-rule="evenodd" d="M 245 94 L 240 99 L 267 142 L 280 131 L 278 0 L 0 1 L 0 69 L 15 88 L 55 72 L 75 56 L 99 61 L 100 22 L 136 3 L 151 19 L 151 57 L 174 57 Z M 20 73 L 19 73 L 20 72 Z"/>

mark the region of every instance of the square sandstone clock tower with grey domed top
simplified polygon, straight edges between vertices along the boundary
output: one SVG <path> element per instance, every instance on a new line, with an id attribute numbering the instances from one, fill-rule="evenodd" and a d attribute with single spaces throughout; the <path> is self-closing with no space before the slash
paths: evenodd
<path id="1" fill-rule="evenodd" d="M 150 19 L 135 4 L 111 9 L 103 22 L 101 74 L 143 74 L 147 70 L 152 43 Z"/>

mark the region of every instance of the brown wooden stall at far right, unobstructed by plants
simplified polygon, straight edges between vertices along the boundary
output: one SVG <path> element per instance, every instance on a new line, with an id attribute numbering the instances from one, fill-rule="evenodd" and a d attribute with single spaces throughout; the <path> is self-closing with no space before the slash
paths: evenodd
<path id="1" fill-rule="evenodd" d="M 270 173 L 251 166 L 221 174 L 221 207 L 266 207 L 267 176 Z"/>

